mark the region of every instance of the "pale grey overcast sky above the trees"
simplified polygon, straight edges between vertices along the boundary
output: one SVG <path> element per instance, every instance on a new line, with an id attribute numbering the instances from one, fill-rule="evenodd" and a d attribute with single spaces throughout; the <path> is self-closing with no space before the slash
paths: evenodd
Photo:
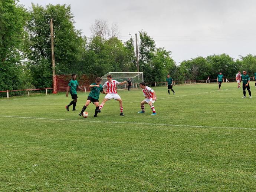
<path id="1" fill-rule="evenodd" d="M 70 4 L 76 29 L 91 36 L 96 19 L 116 22 L 119 39 L 141 29 L 157 47 L 172 52 L 176 63 L 197 56 L 256 54 L 255 0 L 20 0 L 31 3 Z"/>

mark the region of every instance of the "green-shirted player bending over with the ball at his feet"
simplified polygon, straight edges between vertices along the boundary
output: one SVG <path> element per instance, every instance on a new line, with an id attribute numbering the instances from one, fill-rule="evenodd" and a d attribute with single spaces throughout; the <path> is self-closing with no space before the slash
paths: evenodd
<path id="1" fill-rule="evenodd" d="M 97 77 L 95 80 L 95 83 L 92 83 L 89 87 L 91 88 L 91 92 L 88 95 L 87 101 L 83 106 L 81 113 L 78 114 L 80 116 L 83 114 L 86 107 L 88 107 L 88 105 L 91 102 L 96 106 L 96 109 L 99 109 L 99 92 L 104 93 L 105 95 L 107 94 L 102 88 L 100 77 Z M 96 111 L 96 109 L 95 109 L 94 117 L 98 117 L 97 116 L 98 111 Z"/>

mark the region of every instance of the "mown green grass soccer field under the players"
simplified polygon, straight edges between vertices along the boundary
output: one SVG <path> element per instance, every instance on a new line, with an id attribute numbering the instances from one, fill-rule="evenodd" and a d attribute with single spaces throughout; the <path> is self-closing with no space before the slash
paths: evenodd
<path id="1" fill-rule="evenodd" d="M 139 89 L 86 119 L 88 93 L 0 99 L 0 191 L 256 191 L 253 84 L 153 87 L 156 116 Z"/>

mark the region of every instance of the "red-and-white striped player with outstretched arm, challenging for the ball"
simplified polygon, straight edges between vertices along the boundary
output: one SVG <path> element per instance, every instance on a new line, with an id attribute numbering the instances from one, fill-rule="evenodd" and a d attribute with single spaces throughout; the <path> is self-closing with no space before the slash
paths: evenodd
<path id="1" fill-rule="evenodd" d="M 107 93 L 108 94 L 106 94 L 106 96 L 103 99 L 101 105 L 99 106 L 99 109 L 96 109 L 96 111 L 98 111 L 100 113 L 101 109 L 104 106 L 106 101 L 108 101 L 110 99 L 115 99 L 115 100 L 117 100 L 119 102 L 120 115 L 124 116 L 122 99 L 121 99 L 121 97 L 116 92 L 116 85 L 123 85 L 123 84 L 127 83 L 127 81 L 124 81 L 124 82 L 120 83 L 120 82 L 118 82 L 116 80 L 112 80 L 112 76 L 111 75 L 108 75 L 107 79 L 108 79 L 108 81 L 106 83 L 104 83 L 103 88 L 107 89 Z"/>

